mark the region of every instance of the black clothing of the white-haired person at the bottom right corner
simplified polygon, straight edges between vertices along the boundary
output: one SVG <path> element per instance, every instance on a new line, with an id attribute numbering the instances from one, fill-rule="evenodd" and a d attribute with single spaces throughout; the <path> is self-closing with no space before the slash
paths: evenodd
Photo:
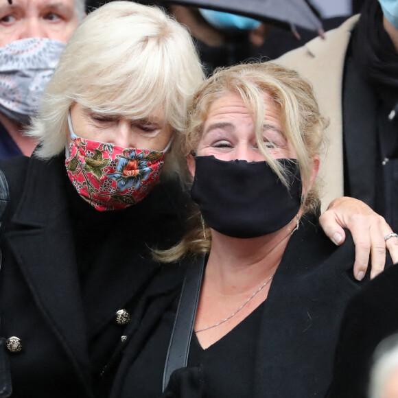
<path id="1" fill-rule="evenodd" d="M 398 333 L 398 267 L 379 274 L 344 314 L 328 398 L 366 398 L 377 344 Z"/>

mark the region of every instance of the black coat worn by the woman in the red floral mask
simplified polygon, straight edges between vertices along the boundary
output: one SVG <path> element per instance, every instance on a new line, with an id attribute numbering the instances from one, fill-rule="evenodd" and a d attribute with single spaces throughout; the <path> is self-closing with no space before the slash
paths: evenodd
<path id="1" fill-rule="evenodd" d="M 115 312 L 131 312 L 158 271 L 148 246 L 170 246 L 182 229 L 182 192 L 163 183 L 107 231 L 83 292 L 64 161 L 0 163 L 11 198 L 1 242 L 0 336 L 22 343 L 21 352 L 8 353 L 12 397 L 106 396 L 102 371 L 126 327 Z M 103 232 L 93 231 L 94 239 Z"/>

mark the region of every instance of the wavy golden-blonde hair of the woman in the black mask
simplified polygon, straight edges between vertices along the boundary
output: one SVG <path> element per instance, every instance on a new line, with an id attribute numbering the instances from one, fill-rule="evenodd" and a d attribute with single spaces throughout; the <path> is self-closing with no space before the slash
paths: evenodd
<path id="1" fill-rule="evenodd" d="M 258 147 L 274 172 L 288 186 L 286 170 L 268 154 L 262 135 L 265 117 L 264 93 L 270 95 L 272 102 L 280 110 L 285 139 L 292 145 L 299 161 L 304 191 L 303 213 L 314 211 L 320 201 L 316 186 L 313 185 L 309 190 L 312 161 L 320 152 L 327 121 L 320 115 L 312 86 L 296 71 L 272 62 L 218 69 L 211 78 L 200 84 L 194 95 L 185 154 L 196 152 L 211 105 L 228 93 L 242 97 L 246 107 L 253 113 Z M 208 253 L 211 247 L 211 232 L 210 229 L 205 229 L 207 239 L 203 239 L 204 231 L 198 209 L 192 216 L 191 223 L 193 228 L 180 244 L 159 252 L 159 256 L 156 257 L 163 261 L 176 261 L 187 252 Z"/>

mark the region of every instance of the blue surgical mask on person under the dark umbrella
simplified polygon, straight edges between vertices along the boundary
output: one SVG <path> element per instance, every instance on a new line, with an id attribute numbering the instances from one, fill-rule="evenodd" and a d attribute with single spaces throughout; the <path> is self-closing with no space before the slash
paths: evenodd
<path id="1" fill-rule="evenodd" d="M 253 30 L 261 24 L 255 19 L 229 14 L 228 12 L 207 10 L 205 8 L 199 8 L 199 11 L 210 25 L 222 30 Z"/>

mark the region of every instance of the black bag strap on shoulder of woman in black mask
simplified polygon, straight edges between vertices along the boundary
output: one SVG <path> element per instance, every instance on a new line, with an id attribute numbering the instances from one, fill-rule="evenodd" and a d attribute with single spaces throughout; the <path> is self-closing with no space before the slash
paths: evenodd
<path id="1" fill-rule="evenodd" d="M 201 261 L 194 261 L 185 273 L 172 336 L 170 337 L 169 349 L 167 350 L 165 370 L 163 372 L 163 391 L 167 387 L 172 373 L 178 368 L 187 366 L 189 345 L 191 344 L 192 331 L 194 330 L 205 258 L 203 256 Z"/>

